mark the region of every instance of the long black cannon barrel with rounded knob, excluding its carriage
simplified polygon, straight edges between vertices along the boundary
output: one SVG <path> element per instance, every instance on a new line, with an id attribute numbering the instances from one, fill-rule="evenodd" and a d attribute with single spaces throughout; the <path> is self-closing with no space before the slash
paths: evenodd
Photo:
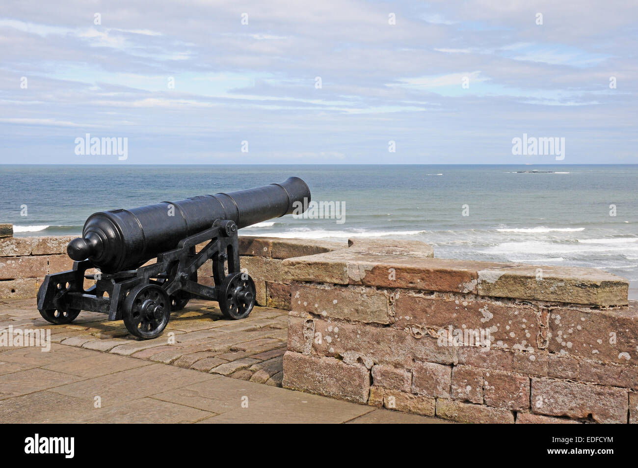
<path id="1" fill-rule="evenodd" d="M 103 273 L 135 269 L 179 241 L 229 220 L 237 228 L 288 215 L 308 206 L 310 190 L 299 177 L 280 184 L 200 195 L 177 202 L 161 202 L 133 209 L 100 211 L 87 218 L 82 237 L 67 252 L 73 260 L 89 259 Z"/>

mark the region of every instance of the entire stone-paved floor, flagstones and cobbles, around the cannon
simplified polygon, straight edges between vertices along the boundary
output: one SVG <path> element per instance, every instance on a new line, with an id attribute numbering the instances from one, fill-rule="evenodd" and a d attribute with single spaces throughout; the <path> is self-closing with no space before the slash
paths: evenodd
<path id="1" fill-rule="evenodd" d="M 0 421 L 444 422 L 278 388 L 286 311 L 260 307 L 226 321 L 214 304 L 192 301 L 172 314 L 161 337 L 138 341 L 101 314 L 52 326 L 34 299 L 0 300 L 0 330 L 46 328 L 52 341 L 49 352 L 0 347 Z"/>

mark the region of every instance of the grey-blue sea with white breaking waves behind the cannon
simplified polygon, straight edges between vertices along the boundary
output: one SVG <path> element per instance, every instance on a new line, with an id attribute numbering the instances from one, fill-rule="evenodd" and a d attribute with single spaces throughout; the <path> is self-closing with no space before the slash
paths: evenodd
<path id="1" fill-rule="evenodd" d="M 638 165 L 0 165 L 15 236 L 80 234 L 96 211 L 281 182 L 308 183 L 315 217 L 241 234 L 427 242 L 449 259 L 586 266 L 638 287 Z M 537 172 L 521 172 L 531 171 Z M 545 172 L 550 171 L 550 172 Z M 338 216 L 337 216 L 338 215 Z"/>

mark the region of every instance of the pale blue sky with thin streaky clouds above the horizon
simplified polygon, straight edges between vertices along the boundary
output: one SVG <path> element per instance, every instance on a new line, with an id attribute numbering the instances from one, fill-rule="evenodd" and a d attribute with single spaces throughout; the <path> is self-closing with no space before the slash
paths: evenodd
<path id="1" fill-rule="evenodd" d="M 638 163 L 637 19 L 626 0 L 4 0 L 0 163 Z M 82 154 L 87 134 L 121 153 Z M 561 154 L 513 154 L 524 135 Z"/>

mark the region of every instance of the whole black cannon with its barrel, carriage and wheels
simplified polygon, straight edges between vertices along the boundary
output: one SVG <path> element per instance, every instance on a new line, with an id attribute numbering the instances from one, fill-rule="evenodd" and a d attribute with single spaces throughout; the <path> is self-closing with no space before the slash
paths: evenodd
<path id="1" fill-rule="evenodd" d="M 237 230 L 305 209 L 309 200 L 308 185 L 289 177 L 248 190 L 94 213 L 82 237 L 67 247 L 73 268 L 45 276 L 38 311 L 53 324 L 68 324 L 82 310 L 106 313 L 143 339 L 161 335 L 170 313 L 192 298 L 218 301 L 224 317 L 244 319 L 256 294 L 240 268 Z M 197 281 L 198 268 L 209 259 L 214 286 Z M 98 273 L 87 274 L 89 269 Z M 86 290 L 85 278 L 95 280 Z"/>

